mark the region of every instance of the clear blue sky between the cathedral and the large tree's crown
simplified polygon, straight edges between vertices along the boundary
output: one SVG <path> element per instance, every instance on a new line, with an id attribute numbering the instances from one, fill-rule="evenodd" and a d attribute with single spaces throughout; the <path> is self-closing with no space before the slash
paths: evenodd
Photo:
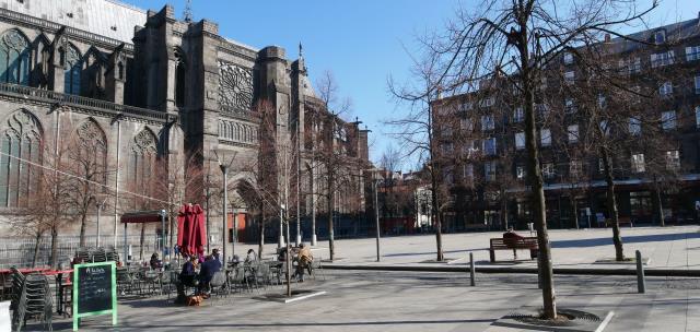
<path id="1" fill-rule="evenodd" d="M 122 0 L 143 9 L 160 10 L 163 0 Z M 564 0 L 562 0 L 564 1 Z M 476 0 L 192 0 L 196 21 L 219 23 L 220 34 L 262 48 L 279 45 L 295 59 L 298 45 L 312 82 L 330 70 L 339 94 L 353 102 L 355 116 L 372 130 L 371 158 L 377 161 L 390 138 L 382 120 L 402 112 L 387 91 L 387 78 L 406 79 L 410 58 L 404 49 L 417 35 L 435 29 L 454 9 Z M 646 1 L 640 1 L 646 2 Z M 182 16 L 185 0 L 170 1 Z M 650 24 L 662 25 L 696 17 L 698 0 L 662 0 Z M 405 168 L 413 165 L 405 165 Z"/>

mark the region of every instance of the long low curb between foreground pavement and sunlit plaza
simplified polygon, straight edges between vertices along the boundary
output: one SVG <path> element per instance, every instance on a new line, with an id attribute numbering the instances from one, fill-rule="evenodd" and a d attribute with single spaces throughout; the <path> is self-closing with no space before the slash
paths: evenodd
<path id="1" fill-rule="evenodd" d="M 469 272 L 469 266 L 417 266 L 417 265 L 360 265 L 360 264 L 324 264 L 324 270 L 364 270 L 364 271 L 404 271 L 404 272 Z M 501 268 L 477 266 L 477 273 L 513 273 L 537 274 L 537 268 Z M 634 269 L 578 269 L 555 268 L 560 275 L 637 275 Z M 693 276 L 700 277 L 700 270 L 649 269 L 646 276 Z"/>

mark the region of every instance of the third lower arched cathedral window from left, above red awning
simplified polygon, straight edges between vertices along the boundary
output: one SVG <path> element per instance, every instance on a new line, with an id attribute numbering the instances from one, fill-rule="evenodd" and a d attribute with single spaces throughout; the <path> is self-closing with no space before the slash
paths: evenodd
<path id="1" fill-rule="evenodd" d="M 158 139 L 155 134 L 145 129 L 133 138 L 131 155 L 129 156 L 128 183 L 129 190 L 144 197 L 150 197 L 155 183 L 153 171 L 158 156 Z M 149 208 L 151 203 L 143 198 L 135 197 L 135 209 Z"/>

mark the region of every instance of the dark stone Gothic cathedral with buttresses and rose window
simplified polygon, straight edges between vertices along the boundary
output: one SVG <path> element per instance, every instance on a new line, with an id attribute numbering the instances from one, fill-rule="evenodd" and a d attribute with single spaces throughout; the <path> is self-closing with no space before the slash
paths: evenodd
<path id="1" fill-rule="evenodd" d="M 330 215 L 328 197 L 337 200 L 336 213 L 364 213 L 368 131 L 334 116 L 316 96 L 301 46 L 291 60 L 281 47 L 228 39 L 211 21 L 178 20 L 170 5 L 2 0 L 0 73 L 0 211 L 8 221 L 30 208 L 31 169 L 50 169 L 65 151 L 88 151 L 98 161 L 93 181 L 105 197 L 104 235 L 117 234 L 128 211 L 171 209 L 185 198 L 202 206 L 205 197 L 220 201 L 203 192 L 213 190 L 210 178 L 221 177 L 226 161 L 233 161 L 229 213 L 248 228 L 266 217 L 273 236 L 281 202 L 299 206 L 293 214 L 304 224 Z M 335 182 L 335 195 L 323 181 L 323 165 L 331 165 L 324 149 L 345 161 L 338 171 L 347 180 Z M 291 174 L 287 186 L 282 169 Z M 178 177 L 197 186 L 172 193 Z M 284 190 L 295 194 L 282 200 Z M 210 215 L 221 215 L 221 203 L 210 204 Z M 91 221 L 94 214 L 90 209 Z M 61 232 L 75 234 L 77 224 L 67 222 Z M 2 235 L 12 234 L 10 225 L 0 226 Z"/>

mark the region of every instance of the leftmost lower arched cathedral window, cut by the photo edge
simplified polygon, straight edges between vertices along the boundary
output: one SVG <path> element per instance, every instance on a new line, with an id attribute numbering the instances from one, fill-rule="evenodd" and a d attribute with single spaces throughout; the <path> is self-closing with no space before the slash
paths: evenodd
<path id="1" fill-rule="evenodd" d="M 0 206 L 26 206 L 27 198 L 39 186 L 42 126 L 26 109 L 15 111 L 2 129 L 0 139 Z"/>

